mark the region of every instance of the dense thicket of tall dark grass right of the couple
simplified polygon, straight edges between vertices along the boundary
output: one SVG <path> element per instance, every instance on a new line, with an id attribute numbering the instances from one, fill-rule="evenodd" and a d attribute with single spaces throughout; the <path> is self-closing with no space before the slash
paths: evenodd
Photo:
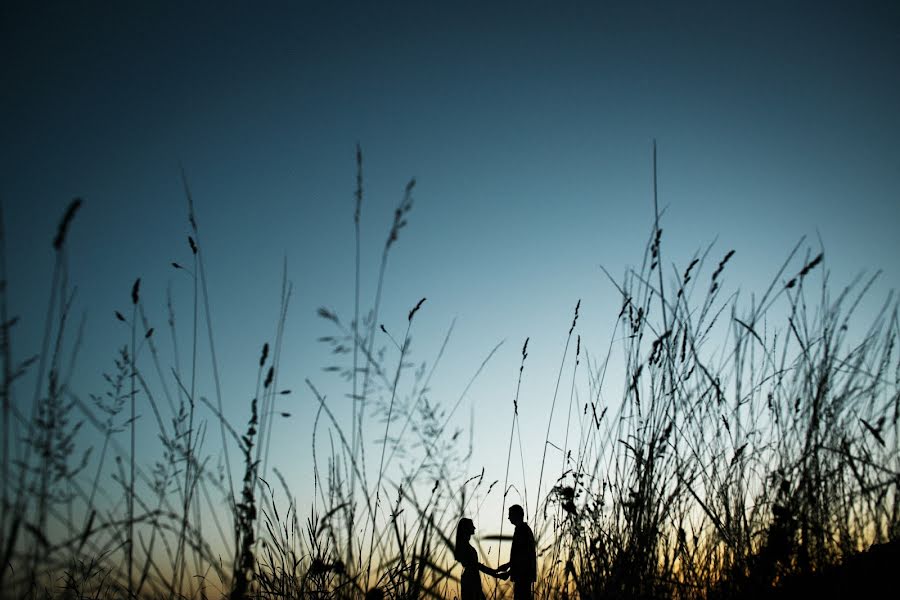
<path id="1" fill-rule="evenodd" d="M 722 296 L 733 251 L 707 279 L 709 251 L 673 268 L 667 294 L 662 239 L 657 224 L 615 283 L 620 399 L 594 390 L 592 434 L 547 498 L 540 534 L 562 558 L 544 562 L 541 595 L 750 597 L 896 543 L 893 297 L 851 337 L 871 281 L 832 296 L 824 255 L 796 250 L 749 305 Z"/>

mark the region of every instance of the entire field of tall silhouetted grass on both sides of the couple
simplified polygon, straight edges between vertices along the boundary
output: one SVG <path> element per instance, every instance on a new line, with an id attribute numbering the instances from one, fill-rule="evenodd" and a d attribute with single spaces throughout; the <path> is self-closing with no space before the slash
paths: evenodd
<path id="1" fill-rule="evenodd" d="M 333 327 L 323 354 L 339 361 L 331 368 L 343 376 L 352 419 L 339 422 L 307 380 L 303 393 L 317 403 L 310 506 L 297 505 L 269 452 L 275 401 L 290 393 L 278 372 L 291 286 L 285 278 L 277 333 L 260 344 L 246 418 L 229 423 L 208 316 L 215 299 L 186 181 L 191 263 L 173 268 L 189 273 L 193 303 L 177 322 L 168 307 L 172 339 L 177 326 L 190 330 L 184 372 L 167 364 L 136 280 L 129 310 L 116 314 L 130 342 L 108 389 L 88 399 L 69 389 L 77 350 L 66 349 L 77 333 L 66 240 L 79 200 L 52 237 L 41 352 L 15 355 L 5 265 L 17 258 L 0 237 L 3 597 L 362 598 L 379 597 L 377 588 L 389 598 L 453 598 L 456 522 L 488 497 L 508 505 L 512 473 L 526 459 L 540 464 L 531 490 L 538 504 L 526 507 L 538 598 L 749 598 L 790 593 L 798 582 L 827 586 L 829 574 L 850 577 L 847 569 L 866 577 L 860 556 L 896 557 L 900 324 L 888 297 L 860 325 L 855 311 L 870 280 L 831 289 L 824 255 L 798 243 L 773 265 L 767 289 L 739 301 L 722 292 L 733 253 L 701 249 L 674 267 L 657 212 L 640 268 L 610 277 L 621 303 L 602 352 L 587 352 L 575 307 L 559 366 L 560 380 L 563 367 L 573 375 L 558 382 L 550 407 L 568 419 L 563 471 L 545 469 L 549 425 L 543 447 L 530 445 L 526 456 L 514 402 L 504 425 L 506 481 L 464 479 L 456 465 L 467 449 L 449 427 L 455 407 L 430 404 L 431 372 L 410 366 L 425 299 L 409 307 L 402 337 L 376 343 L 387 333 L 379 325 L 384 273 L 415 182 L 378 249 L 375 295 L 363 299 L 359 151 L 357 160 L 354 314 L 319 312 Z M 529 368 L 526 336 L 511 385 Z M 213 349 L 209 371 L 197 365 L 200 341 Z M 200 377 L 214 382 L 209 400 L 197 393 Z M 21 381 L 34 382 L 31 395 Z M 136 403 L 158 426 L 162 458 L 152 464 L 135 448 Z M 82 447 L 81 428 L 99 444 Z M 391 443 L 367 453 L 364 435 L 375 429 Z M 323 447 L 330 451 L 319 455 Z M 386 473 L 398 453 L 418 468 L 395 480 Z M 213 466 L 219 461 L 223 469 Z M 491 597 L 512 595 L 511 586 L 484 587 Z"/>

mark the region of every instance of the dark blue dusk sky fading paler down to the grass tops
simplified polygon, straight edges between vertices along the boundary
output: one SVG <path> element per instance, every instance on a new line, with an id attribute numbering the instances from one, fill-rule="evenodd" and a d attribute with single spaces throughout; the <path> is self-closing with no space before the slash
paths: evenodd
<path id="1" fill-rule="evenodd" d="M 455 323 L 430 397 L 446 406 L 503 342 L 454 417 L 465 429 L 474 419 L 466 467 L 502 479 L 525 338 L 520 413 L 537 447 L 579 299 L 585 347 L 599 355 L 610 343 L 620 299 L 600 267 L 618 277 L 641 261 L 654 140 L 670 271 L 709 244 L 711 256 L 734 249 L 728 285 L 749 295 L 806 236 L 801 248 L 821 244 L 835 287 L 879 269 L 877 299 L 898 287 L 898 32 L 895 2 L 6 2 L 13 352 L 40 350 L 51 240 L 79 196 L 68 256 L 87 320 L 72 389 L 104 389 L 129 339 L 114 311 L 130 310 L 137 277 L 160 332 L 171 286 L 185 362 L 192 281 L 170 264 L 190 262 L 183 168 L 235 423 L 274 340 L 286 261 L 278 385 L 294 393 L 279 400 L 292 417 L 276 424 L 272 452 L 308 497 L 317 403 L 305 379 L 349 419 L 346 387 L 322 370 L 334 358 L 316 340 L 333 330 L 316 309 L 352 315 L 358 143 L 363 304 L 415 177 L 379 321 L 402 337 L 427 298 L 412 348 L 429 365 Z M 203 368 L 200 393 L 212 397 Z M 20 386 L 19 401 L 30 397 Z M 383 427 L 372 423 L 370 441 Z M 146 414 L 142 427 L 149 462 Z M 217 452 L 212 440 L 206 449 Z M 481 518 L 496 529 L 499 507 Z"/>

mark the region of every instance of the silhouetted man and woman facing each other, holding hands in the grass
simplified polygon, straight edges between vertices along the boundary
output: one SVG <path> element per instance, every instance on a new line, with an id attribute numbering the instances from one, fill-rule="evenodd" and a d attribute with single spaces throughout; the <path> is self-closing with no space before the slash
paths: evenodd
<path id="1" fill-rule="evenodd" d="M 537 578 L 534 534 L 525 522 L 525 511 L 518 504 L 509 507 L 509 522 L 516 526 L 509 562 L 492 569 L 478 562 L 478 553 L 469 544 L 469 538 L 475 533 L 472 519 L 459 520 L 456 526 L 456 547 L 453 549 L 453 555 L 463 566 L 463 574 L 459 580 L 459 600 L 484 600 L 479 571 L 497 579 L 512 579 L 515 600 L 531 600 L 531 584 Z"/>

